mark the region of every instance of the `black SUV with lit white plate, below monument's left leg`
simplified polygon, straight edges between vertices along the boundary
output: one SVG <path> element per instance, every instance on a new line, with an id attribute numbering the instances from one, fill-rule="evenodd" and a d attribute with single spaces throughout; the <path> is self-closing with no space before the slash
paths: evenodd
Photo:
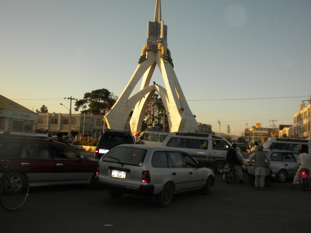
<path id="1" fill-rule="evenodd" d="M 131 131 L 107 129 L 97 143 L 94 158 L 100 159 L 110 149 L 121 144 L 135 144 Z"/>

